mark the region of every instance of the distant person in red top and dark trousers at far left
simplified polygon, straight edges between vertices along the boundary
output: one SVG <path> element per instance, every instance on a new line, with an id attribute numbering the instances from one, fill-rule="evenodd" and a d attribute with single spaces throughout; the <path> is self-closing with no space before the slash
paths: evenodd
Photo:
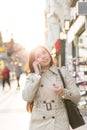
<path id="1" fill-rule="evenodd" d="M 11 85 L 10 85 L 10 68 L 8 66 L 5 66 L 4 69 L 2 70 L 3 90 L 4 90 L 4 87 L 5 87 L 5 83 L 8 83 L 9 87 L 11 88 Z"/>

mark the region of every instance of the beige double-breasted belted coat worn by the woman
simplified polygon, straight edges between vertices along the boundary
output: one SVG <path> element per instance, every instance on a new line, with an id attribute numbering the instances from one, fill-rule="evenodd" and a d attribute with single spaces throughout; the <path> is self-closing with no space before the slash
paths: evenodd
<path id="1" fill-rule="evenodd" d="M 57 67 L 51 66 L 49 70 L 42 71 L 41 75 L 28 74 L 22 97 L 25 101 L 34 101 L 29 130 L 70 130 L 62 99 L 78 103 L 80 91 L 66 67 L 60 70 L 66 84 L 63 97 L 53 91 L 54 85 L 64 87 Z"/>

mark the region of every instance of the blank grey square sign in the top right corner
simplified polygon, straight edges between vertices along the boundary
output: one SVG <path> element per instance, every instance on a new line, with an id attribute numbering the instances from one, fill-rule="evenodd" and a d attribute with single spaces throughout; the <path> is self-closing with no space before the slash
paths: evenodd
<path id="1" fill-rule="evenodd" d="M 87 15 L 87 2 L 78 2 L 78 15 Z"/>

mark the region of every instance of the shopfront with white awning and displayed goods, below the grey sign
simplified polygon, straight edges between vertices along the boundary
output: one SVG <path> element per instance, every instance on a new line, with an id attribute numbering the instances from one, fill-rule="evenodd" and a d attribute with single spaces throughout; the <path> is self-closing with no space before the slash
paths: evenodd
<path id="1" fill-rule="evenodd" d="M 87 29 L 85 16 L 79 16 L 68 32 L 66 44 L 67 66 L 72 71 L 82 95 L 79 106 L 87 108 Z"/>

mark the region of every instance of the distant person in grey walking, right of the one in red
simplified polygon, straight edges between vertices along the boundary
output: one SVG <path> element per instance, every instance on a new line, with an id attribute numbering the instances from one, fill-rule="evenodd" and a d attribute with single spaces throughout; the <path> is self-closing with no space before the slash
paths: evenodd
<path id="1" fill-rule="evenodd" d="M 17 88 L 20 88 L 20 75 L 22 74 L 22 68 L 19 64 L 15 65 L 15 74 L 16 74 L 16 79 L 17 79 Z"/>

